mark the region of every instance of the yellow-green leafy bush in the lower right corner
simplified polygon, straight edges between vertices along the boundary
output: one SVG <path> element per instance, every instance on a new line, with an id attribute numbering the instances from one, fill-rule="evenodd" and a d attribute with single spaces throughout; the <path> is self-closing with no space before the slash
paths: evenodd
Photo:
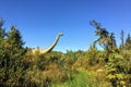
<path id="1" fill-rule="evenodd" d="M 110 80 L 112 87 L 130 86 L 131 61 L 119 53 L 111 53 L 109 62 L 106 65 L 107 78 Z"/>

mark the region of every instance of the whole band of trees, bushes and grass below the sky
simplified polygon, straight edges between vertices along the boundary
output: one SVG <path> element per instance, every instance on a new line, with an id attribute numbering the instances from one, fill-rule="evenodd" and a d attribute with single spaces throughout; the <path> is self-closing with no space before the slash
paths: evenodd
<path id="1" fill-rule="evenodd" d="M 91 21 L 95 39 L 86 51 L 33 52 L 20 30 L 0 21 L 0 87 L 131 87 L 131 36 Z M 103 50 L 99 50 L 100 46 Z"/>

